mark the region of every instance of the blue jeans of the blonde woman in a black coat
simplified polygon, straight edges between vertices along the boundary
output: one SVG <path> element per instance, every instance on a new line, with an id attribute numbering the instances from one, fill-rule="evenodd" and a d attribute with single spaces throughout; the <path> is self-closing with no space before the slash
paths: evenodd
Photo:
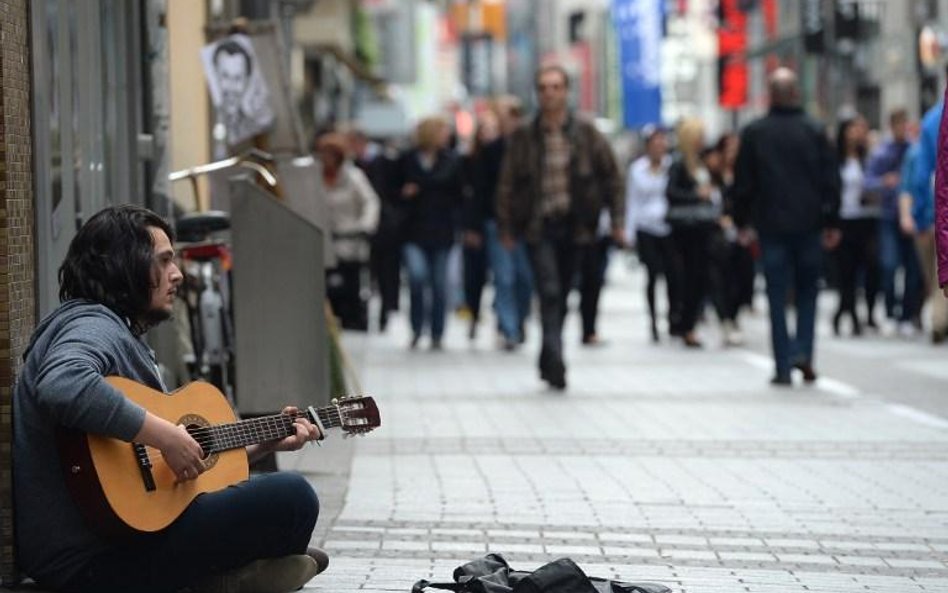
<path id="1" fill-rule="evenodd" d="M 440 341 L 444 335 L 448 251 L 448 248 L 422 247 L 417 243 L 406 243 L 402 248 L 411 295 L 411 330 L 415 336 L 421 335 L 426 319 L 432 340 Z"/>

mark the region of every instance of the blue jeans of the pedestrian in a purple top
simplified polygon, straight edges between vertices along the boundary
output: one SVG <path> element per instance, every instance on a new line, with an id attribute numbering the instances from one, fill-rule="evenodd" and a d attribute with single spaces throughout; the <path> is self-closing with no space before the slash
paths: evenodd
<path id="1" fill-rule="evenodd" d="M 879 223 L 879 263 L 882 268 L 882 289 L 885 312 L 889 318 L 913 321 L 921 309 L 922 272 L 915 250 L 915 238 L 899 228 L 898 220 Z M 895 290 L 895 274 L 904 271 L 902 294 Z"/>

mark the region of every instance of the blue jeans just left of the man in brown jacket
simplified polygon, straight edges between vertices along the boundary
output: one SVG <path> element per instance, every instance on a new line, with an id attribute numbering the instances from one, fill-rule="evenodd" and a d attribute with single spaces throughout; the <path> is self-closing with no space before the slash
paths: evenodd
<path id="1" fill-rule="evenodd" d="M 500 243 L 497 223 L 487 221 L 487 257 L 494 275 L 494 310 L 497 323 L 504 337 L 519 341 L 524 320 L 530 314 L 530 299 L 533 296 L 533 271 L 530 256 L 522 241 L 517 241 L 512 250 Z"/>

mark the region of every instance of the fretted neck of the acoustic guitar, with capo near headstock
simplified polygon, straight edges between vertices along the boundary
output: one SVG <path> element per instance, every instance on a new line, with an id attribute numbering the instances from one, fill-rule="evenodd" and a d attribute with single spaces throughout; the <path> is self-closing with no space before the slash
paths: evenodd
<path id="1" fill-rule="evenodd" d="M 318 408 L 315 409 L 315 412 L 324 428 L 342 426 L 341 415 L 335 406 Z M 196 428 L 191 431 L 191 435 L 200 443 L 201 448 L 204 449 L 204 453 L 210 455 L 211 453 L 219 453 L 221 451 L 286 438 L 296 434 L 293 421 L 297 418 L 305 418 L 308 416 L 309 414 L 303 411 L 297 412 L 296 414 L 261 416 L 259 418 L 240 420 L 231 424 L 217 424 L 215 426 Z"/>

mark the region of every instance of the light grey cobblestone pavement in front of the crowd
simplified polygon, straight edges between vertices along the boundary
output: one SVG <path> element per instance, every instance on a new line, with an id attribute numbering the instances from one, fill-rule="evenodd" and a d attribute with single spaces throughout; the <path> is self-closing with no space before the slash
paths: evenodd
<path id="1" fill-rule="evenodd" d="M 948 421 L 831 377 L 772 388 L 766 357 L 713 339 L 649 344 L 640 283 L 610 268 L 603 346 L 571 314 L 565 393 L 536 325 L 515 353 L 489 313 L 473 343 L 452 318 L 443 352 L 409 350 L 404 315 L 347 335 L 383 426 L 281 459 L 323 500 L 332 564 L 307 590 L 408 592 L 491 551 L 682 593 L 948 591 Z"/>

